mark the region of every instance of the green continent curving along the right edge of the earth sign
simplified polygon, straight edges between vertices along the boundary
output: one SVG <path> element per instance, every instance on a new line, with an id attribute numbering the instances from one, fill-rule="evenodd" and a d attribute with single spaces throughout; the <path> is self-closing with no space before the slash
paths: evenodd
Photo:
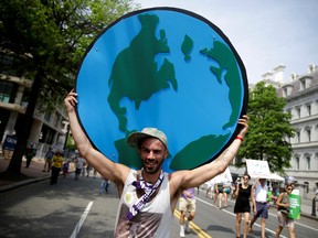
<path id="1" fill-rule="evenodd" d="M 200 51 L 206 57 L 216 61 L 220 67 L 211 66 L 210 71 L 216 76 L 220 84 L 222 84 L 222 73 L 226 72 L 224 79 L 229 86 L 229 99 L 232 107 L 232 113 L 227 123 L 223 126 L 223 129 L 234 126 L 240 116 L 242 86 L 240 69 L 236 58 L 232 51 L 222 42 L 214 41 L 213 48 L 203 48 Z"/>

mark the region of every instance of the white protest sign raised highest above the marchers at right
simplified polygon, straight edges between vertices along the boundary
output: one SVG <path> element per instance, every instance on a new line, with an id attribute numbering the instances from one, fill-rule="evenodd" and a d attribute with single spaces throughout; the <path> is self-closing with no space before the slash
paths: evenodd
<path id="1" fill-rule="evenodd" d="M 247 173 L 251 177 L 269 178 L 271 171 L 267 161 L 246 160 Z"/>

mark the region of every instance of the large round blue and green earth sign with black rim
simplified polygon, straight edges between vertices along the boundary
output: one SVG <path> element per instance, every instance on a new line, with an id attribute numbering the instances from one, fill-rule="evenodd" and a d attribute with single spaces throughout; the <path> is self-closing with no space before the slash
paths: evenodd
<path id="1" fill-rule="evenodd" d="M 86 51 L 77 117 L 114 162 L 139 169 L 126 138 L 152 127 L 168 138 L 163 170 L 190 170 L 234 140 L 247 90 L 244 65 L 218 26 L 182 9 L 144 9 L 118 19 Z"/>

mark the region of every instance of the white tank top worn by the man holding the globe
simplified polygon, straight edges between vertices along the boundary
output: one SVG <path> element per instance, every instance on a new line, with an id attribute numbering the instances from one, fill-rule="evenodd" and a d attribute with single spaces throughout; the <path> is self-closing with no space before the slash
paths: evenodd
<path id="1" fill-rule="evenodd" d="M 114 237 L 169 237 L 173 215 L 170 207 L 168 173 L 165 173 L 163 181 L 156 197 L 147 203 L 132 220 L 128 220 L 126 218 L 127 212 L 138 199 L 136 187 L 131 185 L 136 180 L 137 171 L 130 170 L 118 206 Z"/>

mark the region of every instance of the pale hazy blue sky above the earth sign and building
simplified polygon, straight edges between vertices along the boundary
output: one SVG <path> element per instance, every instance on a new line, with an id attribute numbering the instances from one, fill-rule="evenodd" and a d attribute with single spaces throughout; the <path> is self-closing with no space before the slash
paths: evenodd
<path id="1" fill-rule="evenodd" d="M 135 0 L 145 8 L 181 8 L 208 19 L 241 56 L 250 84 L 284 65 L 284 82 L 318 65 L 317 0 Z"/>

